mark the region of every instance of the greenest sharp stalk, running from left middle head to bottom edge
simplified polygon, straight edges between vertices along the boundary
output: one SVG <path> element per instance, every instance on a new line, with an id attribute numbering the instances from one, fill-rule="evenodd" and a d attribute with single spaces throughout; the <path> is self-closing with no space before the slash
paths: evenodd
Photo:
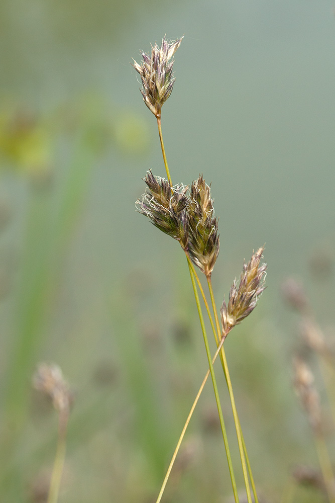
<path id="1" fill-rule="evenodd" d="M 217 411 L 218 411 L 218 416 L 219 416 L 219 420 L 220 420 L 222 436 L 224 438 L 224 443 L 225 443 L 225 449 L 226 449 L 226 455 L 227 455 L 227 461 L 228 461 L 230 476 L 231 476 L 231 480 L 232 480 L 234 497 L 235 497 L 235 501 L 237 503 L 239 501 L 239 496 L 238 496 L 236 482 L 235 482 L 235 475 L 234 475 L 233 463 L 232 463 L 232 458 L 231 458 L 229 444 L 228 444 L 228 438 L 227 438 L 227 432 L 226 432 L 226 427 L 225 427 L 225 422 L 224 422 L 224 416 L 222 414 L 222 409 L 221 409 L 221 404 L 220 404 L 220 398 L 218 396 L 217 384 L 216 384 L 216 379 L 215 379 L 213 364 L 212 364 L 211 356 L 210 356 L 210 350 L 209 350 L 209 345 L 208 345 L 206 328 L 205 328 L 205 324 L 204 324 L 204 320 L 203 320 L 203 315 L 202 315 L 202 310 L 201 310 L 201 306 L 200 306 L 198 291 L 197 291 L 196 284 L 195 284 L 194 274 L 193 274 L 193 271 L 192 271 L 191 261 L 190 261 L 190 259 L 188 257 L 187 257 L 187 262 L 188 262 L 188 268 L 189 268 L 189 272 L 190 272 L 190 276 L 191 276 L 191 282 L 192 282 L 192 287 L 193 287 L 193 292 L 194 292 L 196 307 L 197 307 L 198 314 L 199 314 L 199 320 L 200 320 L 200 325 L 201 325 L 201 330 L 202 330 L 202 335 L 203 335 L 203 341 L 204 341 L 205 348 L 206 348 L 206 354 L 207 354 L 207 359 L 208 359 L 208 364 L 209 364 L 209 371 L 210 371 L 210 375 L 211 375 L 211 378 L 212 378 L 213 390 L 214 390 L 214 395 L 215 395 L 215 400 L 216 400 L 216 405 L 217 405 Z M 222 348 L 223 348 L 223 345 L 222 345 Z"/>

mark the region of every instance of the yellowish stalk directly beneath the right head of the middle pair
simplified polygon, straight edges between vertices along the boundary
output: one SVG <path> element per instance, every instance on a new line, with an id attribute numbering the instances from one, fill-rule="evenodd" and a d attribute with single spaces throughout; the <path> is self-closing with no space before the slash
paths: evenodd
<path id="1" fill-rule="evenodd" d="M 219 325 L 219 321 L 218 321 L 218 315 L 217 315 L 217 309 L 216 309 L 215 300 L 214 300 L 214 294 L 213 294 L 213 288 L 212 288 L 211 278 L 210 278 L 209 275 L 207 276 L 207 283 L 208 283 L 208 289 L 209 289 L 210 299 L 211 299 L 211 302 L 212 302 L 212 307 L 213 307 L 213 312 L 214 312 L 214 318 L 215 318 L 215 322 L 216 322 L 216 329 L 218 331 L 218 334 L 220 334 L 220 331 L 219 331 L 220 330 L 220 325 Z M 220 335 L 219 335 L 219 337 L 220 337 Z M 247 491 L 247 499 L 248 499 L 248 503 L 252 503 L 251 491 L 250 491 L 250 483 L 249 483 L 249 478 L 248 478 L 247 463 L 246 463 L 246 458 L 245 458 L 245 451 L 247 449 L 246 449 L 245 442 L 242 441 L 242 429 L 241 429 L 241 424 L 240 424 L 239 416 L 238 416 L 237 409 L 236 409 L 232 382 L 231 382 L 231 378 L 230 378 L 230 374 L 229 374 L 226 353 L 225 353 L 225 349 L 224 349 L 223 346 L 221 348 L 220 354 L 221 354 L 222 366 L 224 368 L 224 372 L 225 372 L 225 376 L 226 376 L 226 381 L 227 381 L 229 396 L 230 396 L 231 404 L 232 404 L 232 410 L 233 410 L 233 416 L 234 416 L 234 422 L 235 422 L 235 428 L 236 428 L 236 435 L 237 435 L 237 440 L 238 440 L 238 444 L 239 444 L 239 451 L 240 451 L 240 457 L 241 457 L 243 477 L 244 477 L 244 482 L 245 482 L 246 491 Z M 248 463 L 248 464 L 250 466 L 250 463 Z M 257 496 L 255 496 L 255 498 L 257 498 Z"/>

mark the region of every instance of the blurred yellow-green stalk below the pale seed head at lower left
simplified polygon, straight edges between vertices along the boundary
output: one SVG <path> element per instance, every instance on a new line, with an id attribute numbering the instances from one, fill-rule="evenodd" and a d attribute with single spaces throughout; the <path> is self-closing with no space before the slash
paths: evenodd
<path id="1" fill-rule="evenodd" d="M 67 411 L 60 412 L 57 450 L 51 475 L 47 503 L 57 503 L 58 501 L 59 487 L 62 479 L 62 473 L 65 462 L 67 420 L 68 420 L 68 412 Z"/>

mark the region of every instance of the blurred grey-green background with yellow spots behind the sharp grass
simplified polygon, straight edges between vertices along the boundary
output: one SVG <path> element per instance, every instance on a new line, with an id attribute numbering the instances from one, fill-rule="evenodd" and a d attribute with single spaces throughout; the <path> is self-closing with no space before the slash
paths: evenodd
<path id="1" fill-rule="evenodd" d="M 39 362 L 60 365 L 74 391 L 60 494 L 73 503 L 155 501 L 206 372 L 184 256 L 135 211 L 146 171 L 164 176 L 164 165 L 130 62 L 164 34 L 184 35 L 165 147 L 174 183 L 199 173 L 211 182 L 218 305 L 266 243 L 268 288 L 225 344 L 257 486 L 279 502 L 293 465 L 317 466 L 291 384 L 297 318 L 280 285 L 301 278 L 331 339 L 333 9 L 333 0 L 0 3 L 2 501 L 46 501 L 57 417 L 32 390 Z M 229 502 L 221 444 L 208 383 L 163 500 Z M 295 499 L 322 500 L 303 489 Z"/>

